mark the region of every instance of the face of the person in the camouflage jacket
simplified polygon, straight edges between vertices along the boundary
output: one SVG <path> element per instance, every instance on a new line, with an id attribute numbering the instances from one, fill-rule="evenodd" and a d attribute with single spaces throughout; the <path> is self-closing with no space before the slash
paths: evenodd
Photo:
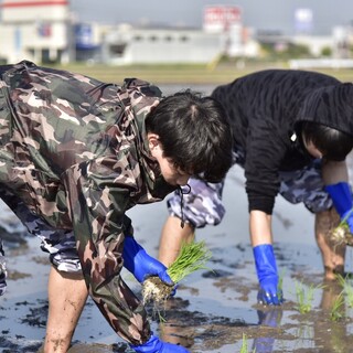
<path id="1" fill-rule="evenodd" d="M 149 146 L 151 154 L 156 158 L 164 180 L 171 185 L 188 184 L 191 175 L 175 168 L 174 163 L 163 156 L 163 149 L 158 140 L 158 136 L 149 133 Z"/>

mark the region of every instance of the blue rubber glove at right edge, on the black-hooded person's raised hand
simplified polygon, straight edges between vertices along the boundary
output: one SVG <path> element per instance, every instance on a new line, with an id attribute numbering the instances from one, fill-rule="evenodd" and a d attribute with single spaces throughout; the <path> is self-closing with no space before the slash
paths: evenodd
<path id="1" fill-rule="evenodd" d="M 353 204 L 349 183 L 340 182 L 327 185 L 324 190 L 331 196 L 334 208 L 339 213 L 341 220 L 344 220 L 347 223 L 350 231 L 353 234 Z"/>

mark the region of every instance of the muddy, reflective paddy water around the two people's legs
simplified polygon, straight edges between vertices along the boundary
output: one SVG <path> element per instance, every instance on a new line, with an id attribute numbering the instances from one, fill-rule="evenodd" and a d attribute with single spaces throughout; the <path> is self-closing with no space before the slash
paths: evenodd
<path id="1" fill-rule="evenodd" d="M 352 175 L 352 172 L 351 172 Z M 275 252 L 284 280 L 286 302 L 280 308 L 256 304 L 257 280 L 248 239 L 247 202 L 244 176 L 235 167 L 226 181 L 225 220 L 217 227 L 200 229 L 213 257 L 210 270 L 186 278 L 176 297 L 162 308 L 161 324 L 148 307 L 153 331 L 165 341 L 179 342 L 192 353 L 239 352 L 353 352 L 353 322 L 350 298 L 332 319 L 332 308 L 342 290 L 322 281 L 321 256 L 313 238 L 313 216 L 301 205 L 290 205 L 280 197 L 274 214 Z M 167 210 L 163 202 L 137 206 L 129 212 L 137 239 L 157 256 L 158 239 Z M 4 206 L 1 224 L 17 226 Z M 41 352 L 47 313 L 46 281 L 49 263 L 39 249 L 39 240 L 6 232 L 10 279 L 8 292 L 0 298 L 0 352 Z M 15 239 L 15 242 L 10 242 Z M 352 270 L 353 252 L 349 248 L 346 270 Z M 139 295 L 140 287 L 128 272 L 124 277 Z M 308 313 L 299 312 L 298 285 L 311 287 Z M 322 286 L 325 286 L 322 288 Z M 353 285 L 353 284 L 352 284 Z M 111 331 L 96 307 L 88 300 L 78 322 L 71 353 L 131 352 Z"/>

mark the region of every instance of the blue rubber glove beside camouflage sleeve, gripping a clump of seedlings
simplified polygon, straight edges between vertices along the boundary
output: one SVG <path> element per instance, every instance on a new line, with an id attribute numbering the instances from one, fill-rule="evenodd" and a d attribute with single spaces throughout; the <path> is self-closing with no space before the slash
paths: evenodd
<path id="1" fill-rule="evenodd" d="M 125 238 L 122 258 L 124 267 L 128 269 L 140 284 L 150 276 L 158 276 L 167 285 L 174 285 L 167 272 L 167 267 L 149 256 L 143 247 L 131 236 Z"/>

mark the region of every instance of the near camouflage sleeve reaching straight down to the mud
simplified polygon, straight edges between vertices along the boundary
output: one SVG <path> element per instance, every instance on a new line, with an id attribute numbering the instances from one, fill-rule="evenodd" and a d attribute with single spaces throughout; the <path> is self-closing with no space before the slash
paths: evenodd
<path id="1" fill-rule="evenodd" d="M 150 335 L 147 314 L 120 277 L 125 212 L 136 191 L 133 171 L 121 173 L 121 163 L 105 157 L 75 164 L 64 183 L 89 295 L 122 339 L 141 344 Z"/>

